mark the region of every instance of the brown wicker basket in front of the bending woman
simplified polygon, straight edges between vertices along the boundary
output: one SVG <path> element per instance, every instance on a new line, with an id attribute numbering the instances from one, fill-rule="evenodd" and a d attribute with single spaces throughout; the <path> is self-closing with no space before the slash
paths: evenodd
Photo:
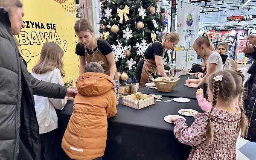
<path id="1" fill-rule="evenodd" d="M 177 85 L 178 81 L 180 80 L 177 77 L 169 78 L 171 81 L 165 81 L 165 77 L 158 77 L 157 79 L 154 79 L 154 84 L 157 87 L 157 90 L 160 92 L 172 92 L 172 90 Z"/>

